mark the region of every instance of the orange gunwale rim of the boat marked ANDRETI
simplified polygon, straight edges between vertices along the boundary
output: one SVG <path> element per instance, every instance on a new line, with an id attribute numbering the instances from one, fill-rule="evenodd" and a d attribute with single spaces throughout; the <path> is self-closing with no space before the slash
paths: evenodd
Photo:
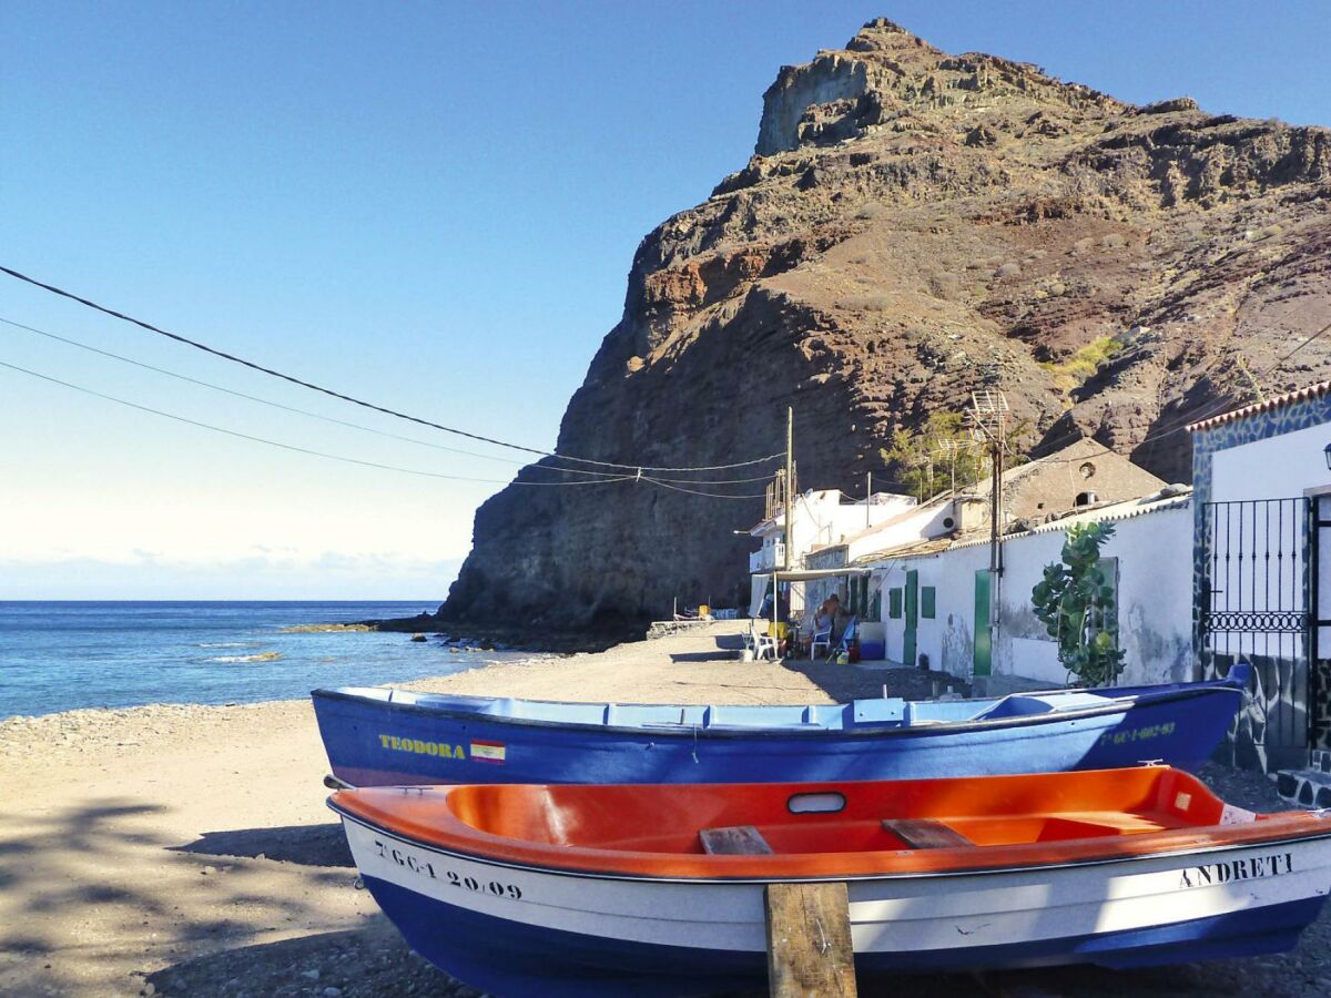
<path id="1" fill-rule="evenodd" d="M 449 848 L 438 842 L 426 842 L 418 838 L 411 838 L 402 832 L 394 832 L 383 825 L 366 818 L 362 814 L 347 810 L 346 808 L 334 802 L 334 796 L 329 797 L 326 801 L 327 808 L 338 814 L 342 820 L 357 824 L 371 832 L 387 836 L 403 845 L 410 845 L 417 849 L 425 849 L 426 852 L 435 853 L 439 856 L 447 856 L 458 860 L 466 860 L 470 862 L 479 862 L 487 866 L 498 866 L 511 870 L 523 870 L 527 873 L 539 873 L 551 877 L 574 877 L 579 880 L 614 880 L 614 881 L 631 881 L 640 884 L 725 884 L 725 885 L 739 885 L 739 884 L 823 884 L 823 882 L 866 882 L 866 881 L 880 881 L 880 880 L 925 880 L 934 877 L 978 877 L 978 876 L 998 876 L 998 874 L 1014 874 L 1014 873 L 1040 873 L 1044 870 L 1063 870 L 1063 869 L 1077 869 L 1086 866 L 1107 866 L 1126 862 L 1147 862 L 1159 858 L 1171 858 L 1179 856 L 1211 856 L 1215 853 L 1235 852 L 1243 849 L 1260 849 L 1260 848 L 1274 848 L 1278 845 L 1311 842 L 1323 838 L 1331 838 L 1331 820 L 1323 818 L 1327 824 L 1324 828 L 1316 830 L 1310 828 L 1307 832 L 1300 834 L 1283 834 L 1275 837 L 1254 836 L 1244 837 L 1240 840 L 1218 841 L 1213 845 L 1206 846 L 1191 846 L 1191 848 L 1178 848 L 1178 849 L 1159 849 L 1151 852 L 1131 852 L 1121 853 L 1114 856 L 1089 856 L 1085 858 L 1075 860 L 1061 860 L 1054 862 L 1037 862 L 1025 865 L 981 865 L 981 866 L 965 866 L 965 868 L 948 868 L 948 869 L 917 869 L 917 870 L 902 870 L 897 873 L 890 872 L 870 872 L 870 873 L 824 873 L 824 874 L 755 874 L 755 873 L 739 873 L 727 874 L 724 872 L 717 873 L 699 873 L 699 874 L 652 874 L 652 873 L 636 873 L 612 869 L 582 869 L 570 866 L 543 866 L 532 862 L 519 862 L 516 860 L 507 860 L 495 856 L 486 856 L 480 853 L 470 853 L 463 849 Z M 1278 812 L 1276 814 L 1268 816 L 1266 821 L 1255 822 L 1259 828 L 1268 826 L 1272 821 L 1279 821 L 1282 825 L 1288 824 L 1304 824 L 1310 817 L 1320 817 L 1324 812 L 1319 810 L 1290 810 Z M 1284 818 L 1282 821 L 1282 818 Z M 1242 829 L 1251 828 L 1251 825 L 1203 825 L 1201 829 Z M 1161 832 L 1149 832 L 1131 836 L 1134 840 L 1154 840 L 1159 837 L 1177 837 L 1181 832 L 1191 830 L 1197 832 L 1199 829 L 1166 829 Z M 487 834 L 487 833 L 482 833 Z M 492 838 L 503 838 L 500 836 L 491 836 Z M 522 840 L 507 840 L 518 841 Z M 1069 841 L 1101 841 L 1101 840 L 1065 840 Z M 1122 841 L 1121 838 L 1106 840 L 1106 841 Z M 1025 844 L 1022 848 L 1030 848 L 1036 845 L 1046 844 Z M 1005 846 L 1013 848 L 1013 846 Z M 592 852 L 586 849 L 586 852 Z M 596 850 L 603 852 L 603 850 Z M 882 856 L 882 854 L 900 854 L 902 852 L 913 850 L 877 850 L 874 853 L 860 852 L 860 853 L 844 853 L 844 856 Z M 957 850 L 937 849 L 933 853 L 953 853 Z M 837 853 L 841 854 L 841 853 Z M 639 856 L 644 856 L 639 853 Z M 655 853 L 652 856 L 660 856 Z M 673 854 L 669 854 L 673 858 Z M 739 864 L 773 864 L 780 860 L 789 860 L 792 856 L 825 856 L 825 853 L 784 853 L 776 856 L 689 856 L 689 860 L 701 861 L 707 865 L 733 866 Z M 363 873 L 363 872 L 362 872 Z M 417 892 L 419 893 L 419 892 Z"/>

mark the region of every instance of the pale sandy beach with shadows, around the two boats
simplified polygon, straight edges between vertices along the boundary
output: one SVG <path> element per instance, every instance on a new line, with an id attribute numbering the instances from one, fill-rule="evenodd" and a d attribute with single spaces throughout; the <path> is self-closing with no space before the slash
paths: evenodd
<path id="1" fill-rule="evenodd" d="M 740 663 L 737 625 L 410 684 L 478 695 L 693 703 L 928 696 L 934 679 Z M 349 635 L 354 640 L 354 635 Z M 447 655 L 441 648 L 441 655 Z M 1214 769 L 1214 768 L 1211 768 Z M 307 701 L 73 711 L 0 723 L 0 993 L 474 994 L 411 954 L 354 888 L 323 806 Z M 1279 806 L 1260 777 L 1211 772 Z M 1280 957 L 1131 974 L 1054 970 L 912 981 L 909 994 L 1331 993 L 1324 915 Z"/>

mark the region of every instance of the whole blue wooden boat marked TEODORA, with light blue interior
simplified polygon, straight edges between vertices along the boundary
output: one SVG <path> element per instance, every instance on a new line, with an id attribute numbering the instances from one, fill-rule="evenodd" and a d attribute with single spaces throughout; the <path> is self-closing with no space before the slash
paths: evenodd
<path id="1" fill-rule="evenodd" d="M 386 688 L 311 693 L 333 774 L 398 784 L 913 780 L 1201 765 L 1238 712 L 1223 680 L 992 700 L 808 707 L 579 704 Z"/>

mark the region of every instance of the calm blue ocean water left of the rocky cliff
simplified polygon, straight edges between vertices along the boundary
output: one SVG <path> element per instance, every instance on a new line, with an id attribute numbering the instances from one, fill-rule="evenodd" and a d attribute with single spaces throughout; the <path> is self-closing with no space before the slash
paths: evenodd
<path id="1" fill-rule="evenodd" d="M 438 603 L 0 601 L 0 719 L 80 707 L 287 700 L 317 687 L 461 672 L 519 652 L 298 624 L 414 616 Z"/>

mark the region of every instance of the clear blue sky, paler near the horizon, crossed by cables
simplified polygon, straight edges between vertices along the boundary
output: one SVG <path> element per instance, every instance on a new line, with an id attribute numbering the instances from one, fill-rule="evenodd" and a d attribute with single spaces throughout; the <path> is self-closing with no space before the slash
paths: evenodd
<path id="1" fill-rule="evenodd" d="M 1320 1 L 15 1 L 0 4 L 0 263 L 548 447 L 619 318 L 639 240 L 744 165 L 780 65 L 880 15 L 1130 101 L 1186 93 L 1331 124 Z M 415 432 L 3 277 L 0 318 Z M 274 414 L 3 325 L 0 361 L 347 456 L 490 479 L 515 468 Z M 0 599 L 441 599 L 499 487 L 294 456 L 5 369 L 0 416 Z"/>

